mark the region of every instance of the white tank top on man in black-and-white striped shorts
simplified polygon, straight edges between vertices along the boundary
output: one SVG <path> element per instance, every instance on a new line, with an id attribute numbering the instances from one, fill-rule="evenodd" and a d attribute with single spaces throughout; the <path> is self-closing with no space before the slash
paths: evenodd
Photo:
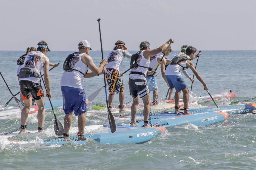
<path id="1" fill-rule="evenodd" d="M 139 66 L 144 66 L 144 67 L 149 67 L 149 63 L 150 61 L 145 59 L 145 57 L 143 56 L 143 52 L 145 50 L 141 51 L 141 54 L 138 56 L 137 58 L 137 64 Z M 131 72 L 141 72 L 143 73 L 144 75 L 146 75 L 148 69 L 147 68 L 144 68 L 144 67 L 135 67 L 135 68 L 132 68 L 130 70 L 130 73 Z M 130 78 L 135 80 L 135 79 L 144 79 L 146 80 L 146 78 L 143 76 L 143 75 L 140 75 L 140 74 L 129 74 Z"/>

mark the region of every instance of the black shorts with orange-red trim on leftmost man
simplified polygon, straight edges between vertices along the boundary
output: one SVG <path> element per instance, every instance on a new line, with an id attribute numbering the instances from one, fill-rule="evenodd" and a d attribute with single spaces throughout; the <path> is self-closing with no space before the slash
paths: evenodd
<path id="1" fill-rule="evenodd" d="M 20 80 L 19 88 L 23 100 L 28 100 L 31 97 L 31 95 L 34 98 L 34 100 L 39 100 L 41 99 L 41 97 L 45 96 L 41 83 L 34 83 L 28 80 Z"/>

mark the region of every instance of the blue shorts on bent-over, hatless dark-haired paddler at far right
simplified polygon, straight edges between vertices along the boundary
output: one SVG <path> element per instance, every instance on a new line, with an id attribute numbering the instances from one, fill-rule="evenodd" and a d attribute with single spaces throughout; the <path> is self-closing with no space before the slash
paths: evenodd
<path id="1" fill-rule="evenodd" d="M 180 91 L 187 88 L 187 85 L 182 76 L 165 75 L 165 78 L 167 79 L 171 89 L 174 87 L 176 91 Z"/>

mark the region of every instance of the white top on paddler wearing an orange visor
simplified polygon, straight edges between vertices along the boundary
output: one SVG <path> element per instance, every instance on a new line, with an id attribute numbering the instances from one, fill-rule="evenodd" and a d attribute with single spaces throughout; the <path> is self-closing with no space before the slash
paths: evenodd
<path id="1" fill-rule="evenodd" d="M 111 51 L 108 56 L 108 65 L 106 68 L 113 68 L 119 71 L 124 61 L 124 55 L 121 53 L 121 49 Z"/>

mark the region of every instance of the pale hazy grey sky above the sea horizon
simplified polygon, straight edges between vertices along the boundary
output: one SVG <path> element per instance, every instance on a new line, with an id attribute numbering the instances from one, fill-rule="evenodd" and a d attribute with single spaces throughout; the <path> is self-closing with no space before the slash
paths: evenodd
<path id="1" fill-rule="evenodd" d="M 256 50 L 255 0 L 0 0 L 0 50 L 22 50 L 40 40 L 76 51 L 81 40 L 100 50 L 118 40 L 127 50 L 151 49 L 170 38 L 200 50 Z"/>

